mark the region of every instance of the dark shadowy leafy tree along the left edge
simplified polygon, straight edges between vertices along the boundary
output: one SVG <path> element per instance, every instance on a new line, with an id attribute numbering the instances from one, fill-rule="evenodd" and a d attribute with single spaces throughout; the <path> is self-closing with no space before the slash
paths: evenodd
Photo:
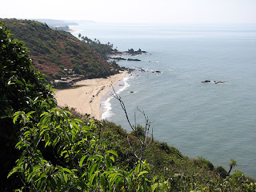
<path id="1" fill-rule="evenodd" d="M 24 43 L 11 35 L 0 23 L 0 181 L 6 186 L 14 186 L 13 180 L 8 184 L 6 176 L 19 154 L 14 146 L 20 127 L 14 126 L 11 116 L 18 110 L 36 109 L 35 117 L 39 118 L 56 106 L 52 88 L 42 83 L 46 80 L 34 70 Z"/>

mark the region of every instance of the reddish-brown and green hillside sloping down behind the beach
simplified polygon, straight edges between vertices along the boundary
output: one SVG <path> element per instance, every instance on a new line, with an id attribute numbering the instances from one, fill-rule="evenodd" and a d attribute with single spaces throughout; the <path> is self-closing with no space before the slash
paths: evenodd
<path id="1" fill-rule="evenodd" d="M 118 73 L 118 66 L 106 62 L 100 54 L 72 34 L 52 30 L 46 23 L 1 19 L 14 34 L 25 42 L 36 70 L 46 74 L 48 80 L 65 76 L 65 70 L 74 70 L 84 78 L 105 78 Z"/>

